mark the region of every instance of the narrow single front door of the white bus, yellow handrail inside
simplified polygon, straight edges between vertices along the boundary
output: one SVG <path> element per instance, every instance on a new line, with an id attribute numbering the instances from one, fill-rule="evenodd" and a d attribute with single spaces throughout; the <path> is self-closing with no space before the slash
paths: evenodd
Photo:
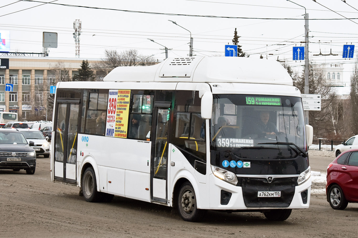
<path id="1" fill-rule="evenodd" d="M 167 204 L 168 123 L 170 102 L 154 102 L 151 135 L 150 197 L 152 202 Z"/>

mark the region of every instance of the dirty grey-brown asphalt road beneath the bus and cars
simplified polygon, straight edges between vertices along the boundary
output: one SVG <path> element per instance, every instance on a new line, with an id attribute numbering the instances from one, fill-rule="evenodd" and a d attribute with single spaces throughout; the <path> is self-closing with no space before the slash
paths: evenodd
<path id="1" fill-rule="evenodd" d="M 311 156 L 310 164 L 325 172 L 332 160 Z M 190 223 L 169 207 L 128 198 L 85 202 L 79 188 L 51 182 L 49 168 L 48 158 L 38 158 L 33 175 L 0 170 L 0 237 L 358 237 L 358 204 L 334 210 L 323 192 L 311 194 L 310 208 L 293 210 L 284 222 L 258 212 L 209 211 L 202 222 Z"/>

